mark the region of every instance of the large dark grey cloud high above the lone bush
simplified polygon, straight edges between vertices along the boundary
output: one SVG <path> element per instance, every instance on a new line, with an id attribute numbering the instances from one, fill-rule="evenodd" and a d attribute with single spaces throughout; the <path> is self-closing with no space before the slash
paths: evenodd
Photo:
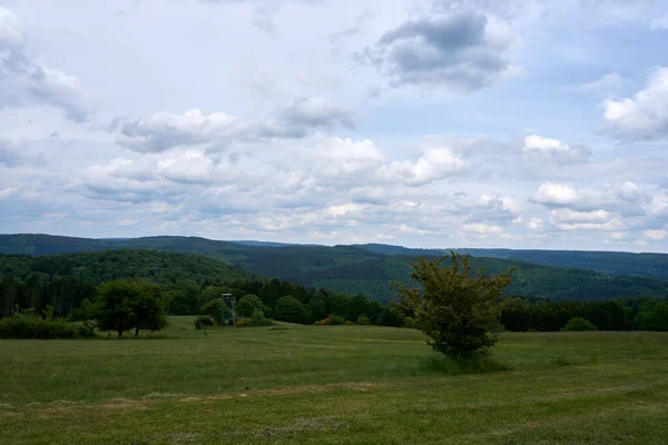
<path id="1" fill-rule="evenodd" d="M 385 32 L 358 59 L 394 86 L 440 86 L 458 92 L 490 87 L 512 72 L 514 31 L 477 12 L 412 19 Z"/>

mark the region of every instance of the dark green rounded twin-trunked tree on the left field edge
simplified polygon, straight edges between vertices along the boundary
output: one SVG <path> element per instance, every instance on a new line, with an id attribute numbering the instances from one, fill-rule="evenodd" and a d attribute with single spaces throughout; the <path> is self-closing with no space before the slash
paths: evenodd
<path id="1" fill-rule="evenodd" d="M 160 286 L 145 280 L 117 279 L 99 286 L 89 317 L 102 330 L 160 330 L 167 325 Z"/>

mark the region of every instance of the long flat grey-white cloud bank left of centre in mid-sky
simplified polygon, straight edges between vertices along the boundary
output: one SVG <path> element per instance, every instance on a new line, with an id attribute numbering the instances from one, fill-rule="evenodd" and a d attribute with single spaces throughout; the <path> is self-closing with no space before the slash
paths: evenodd
<path id="1" fill-rule="evenodd" d="M 112 126 L 120 135 L 117 144 L 137 152 L 163 152 L 176 147 L 226 148 L 234 141 L 267 138 L 299 139 L 316 130 L 338 126 L 353 128 L 351 112 L 326 99 L 301 99 L 265 121 L 247 121 L 225 112 L 204 113 L 191 109 L 184 115 L 168 111 L 148 119 L 119 119 Z"/>

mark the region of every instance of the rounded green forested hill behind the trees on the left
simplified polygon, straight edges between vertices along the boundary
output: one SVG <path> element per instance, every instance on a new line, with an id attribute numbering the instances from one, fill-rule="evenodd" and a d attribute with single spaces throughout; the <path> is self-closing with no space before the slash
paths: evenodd
<path id="1" fill-rule="evenodd" d="M 194 281 L 203 285 L 256 276 L 202 255 L 157 250 L 121 249 L 36 257 L 0 255 L 0 275 L 9 274 L 24 279 L 33 273 L 71 276 L 91 285 L 116 278 L 146 278 L 158 284 Z"/>

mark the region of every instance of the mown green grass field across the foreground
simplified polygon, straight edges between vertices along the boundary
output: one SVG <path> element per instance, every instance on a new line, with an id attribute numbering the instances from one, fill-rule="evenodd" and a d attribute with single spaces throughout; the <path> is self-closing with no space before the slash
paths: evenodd
<path id="1" fill-rule="evenodd" d="M 0 444 L 668 443 L 668 334 L 504 334 L 485 374 L 432 357 L 409 329 L 189 317 L 0 340 Z"/>

